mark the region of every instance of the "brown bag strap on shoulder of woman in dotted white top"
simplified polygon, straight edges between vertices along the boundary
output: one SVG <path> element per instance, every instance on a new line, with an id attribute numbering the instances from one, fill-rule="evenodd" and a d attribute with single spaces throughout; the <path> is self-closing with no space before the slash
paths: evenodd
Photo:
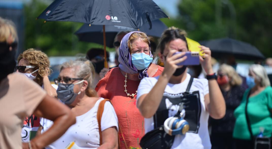
<path id="1" fill-rule="evenodd" d="M 104 111 L 104 105 L 106 103 L 106 101 L 109 101 L 109 99 L 104 99 L 102 100 L 99 105 L 98 105 L 98 109 L 97 109 L 97 122 L 98 122 L 98 129 L 99 129 L 99 135 L 100 135 L 100 145 L 102 145 L 102 131 L 101 131 L 101 118 L 102 118 L 102 114 L 103 114 L 103 111 Z M 110 102 L 112 104 L 112 102 Z M 118 127 L 119 127 L 119 130 L 121 132 L 121 135 L 122 135 L 122 138 L 124 140 L 124 143 L 125 143 L 125 146 L 126 146 L 126 149 L 128 149 L 128 146 L 126 145 L 126 141 L 125 141 L 125 138 L 123 136 L 123 133 L 122 133 L 122 130 L 121 130 L 121 126 L 118 122 Z M 119 139 L 119 133 L 118 133 L 118 145 L 119 145 L 119 148 L 120 148 L 120 139 Z"/>

